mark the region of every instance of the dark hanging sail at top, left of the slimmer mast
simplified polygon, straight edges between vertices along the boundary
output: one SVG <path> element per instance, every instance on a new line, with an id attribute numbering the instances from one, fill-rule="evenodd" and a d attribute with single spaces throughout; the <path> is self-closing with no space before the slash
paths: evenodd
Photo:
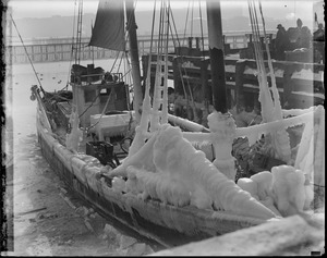
<path id="1" fill-rule="evenodd" d="M 100 0 L 89 46 L 125 50 L 124 1 Z"/>

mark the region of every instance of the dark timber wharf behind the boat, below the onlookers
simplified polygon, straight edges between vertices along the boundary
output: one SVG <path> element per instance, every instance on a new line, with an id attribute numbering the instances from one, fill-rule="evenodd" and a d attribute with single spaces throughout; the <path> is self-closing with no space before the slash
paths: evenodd
<path id="1" fill-rule="evenodd" d="M 143 71 L 147 71 L 148 56 L 143 56 L 142 60 Z M 156 60 L 157 56 L 152 56 L 152 86 L 156 73 Z M 210 60 L 207 57 L 177 54 L 170 54 L 168 60 L 168 78 L 173 81 L 175 96 L 183 96 L 179 100 L 180 105 L 195 106 L 199 114 L 208 110 L 209 106 L 213 106 Z M 268 67 L 267 61 L 265 62 Z M 324 64 L 274 61 L 272 66 L 282 108 L 303 109 L 314 105 L 324 105 Z M 228 108 L 231 109 L 238 105 L 252 111 L 259 107 L 256 61 L 226 57 L 225 67 Z M 269 74 L 268 83 L 271 85 Z M 203 121 L 195 122 L 202 123 Z"/>

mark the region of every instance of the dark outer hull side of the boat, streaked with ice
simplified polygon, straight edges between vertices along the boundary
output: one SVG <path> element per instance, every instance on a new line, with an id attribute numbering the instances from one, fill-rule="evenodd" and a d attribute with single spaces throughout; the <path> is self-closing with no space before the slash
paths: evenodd
<path id="1" fill-rule="evenodd" d="M 179 208 L 156 200 L 142 200 L 132 194 L 117 193 L 101 177 L 100 168 L 80 159 L 55 139 L 37 112 L 37 134 L 43 156 L 56 173 L 78 196 L 104 217 L 117 220 L 138 234 L 166 247 L 204 239 L 266 222 L 223 211 Z"/>

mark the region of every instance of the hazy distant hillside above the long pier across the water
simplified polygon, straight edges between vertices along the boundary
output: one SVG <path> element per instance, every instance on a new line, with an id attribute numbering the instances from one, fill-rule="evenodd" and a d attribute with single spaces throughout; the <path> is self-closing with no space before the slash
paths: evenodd
<path id="1" fill-rule="evenodd" d="M 152 12 L 136 12 L 137 34 L 148 35 L 152 30 Z M 186 11 L 185 10 L 173 10 L 173 22 L 178 33 L 183 34 L 185 28 Z M 189 15 L 189 20 L 190 15 Z M 16 20 L 16 25 L 23 38 L 58 38 L 58 37 L 72 37 L 73 36 L 73 16 L 52 16 L 46 19 L 22 19 Z M 83 36 L 88 37 L 92 34 L 92 23 L 95 22 L 95 14 L 85 13 L 83 15 Z M 293 21 L 279 21 L 277 19 L 266 17 L 266 29 L 277 30 L 277 24 L 282 23 L 286 28 L 295 26 Z M 191 33 L 191 24 L 187 23 L 187 32 Z M 203 17 L 203 29 L 207 32 L 206 17 Z M 201 34 L 201 20 L 194 16 L 193 19 L 193 34 Z M 249 17 L 239 15 L 231 17 L 231 15 L 222 15 L 222 30 L 245 30 L 251 32 Z M 12 36 L 16 36 L 14 29 L 12 29 Z M 76 35 L 76 28 L 75 33 Z M 206 33 L 204 33 L 206 34 Z M 75 36 L 74 35 L 74 36 Z"/>

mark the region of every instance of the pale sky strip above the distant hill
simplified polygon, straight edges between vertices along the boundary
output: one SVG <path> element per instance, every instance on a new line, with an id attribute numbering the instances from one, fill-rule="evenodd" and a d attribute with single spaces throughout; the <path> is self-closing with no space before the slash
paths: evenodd
<path id="1" fill-rule="evenodd" d="M 295 16 L 306 16 L 308 10 L 312 10 L 312 3 L 317 0 L 263 0 L 263 10 L 265 15 L 282 15 L 290 20 Z M 74 14 L 75 0 L 9 0 L 14 19 L 23 17 L 50 17 L 53 15 L 70 16 Z M 194 1 L 195 5 L 198 0 Z M 137 0 L 136 11 L 153 10 L 154 0 Z M 96 13 L 98 0 L 84 0 L 84 13 Z M 187 0 L 171 0 L 172 8 L 184 8 L 189 5 Z M 221 12 L 232 12 L 233 9 L 242 9 L 243 15 L 247 15 L 246 0 L 222 0 Z M 323 19 L 322 19 L 323 20 Z"/>

